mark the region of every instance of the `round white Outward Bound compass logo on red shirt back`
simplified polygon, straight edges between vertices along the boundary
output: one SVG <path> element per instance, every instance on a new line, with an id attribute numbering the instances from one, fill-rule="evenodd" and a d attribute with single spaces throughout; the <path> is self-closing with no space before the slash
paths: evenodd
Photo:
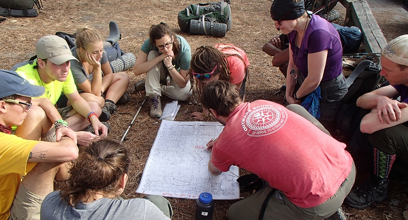
<path id="1" fill-rule="evenodd" d="M 286 111 L 272 105 L 261 105 L 248 110 L 242 117 L 242 129 L 249 136 L 265 136 L 281 129 L 288 118 Z"/>

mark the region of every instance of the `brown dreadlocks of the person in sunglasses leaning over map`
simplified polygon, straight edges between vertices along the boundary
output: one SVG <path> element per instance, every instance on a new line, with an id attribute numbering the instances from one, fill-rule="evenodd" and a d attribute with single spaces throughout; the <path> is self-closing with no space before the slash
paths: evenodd
<path id="1" fill-rule="evenodd" d="M 211 77 L 219 75 L 218 80 L 230 81 L 231 74 L 228 69 L 227 56 L 214 46 L 198 47 L 192 55 L 190 69 L 187 72 L 190 75 L 190 82 L 194 83 L 193 78 L 195 77 L 192 75 L 193 71 L 196 73 L 207 73 L 213 71 L 214 67 L 216 69 Z M 197 80 L 195 88 L 198 91 L 198 96 L 201 95 L 201 88 L 203 87 L 203 81 Z"/>

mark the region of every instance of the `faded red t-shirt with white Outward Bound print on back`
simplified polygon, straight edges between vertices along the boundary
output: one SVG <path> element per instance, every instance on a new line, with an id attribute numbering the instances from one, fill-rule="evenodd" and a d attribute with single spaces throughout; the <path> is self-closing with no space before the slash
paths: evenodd
<path id="1" fill-rule="evenodd" d="M 293 204 L 310 208 L 332 197 L 349 175 L 346 145 L 302 116 L 265 100 L 241 103 L 212 150 L 212 163 L 250 171 L 282 191 Z"/>

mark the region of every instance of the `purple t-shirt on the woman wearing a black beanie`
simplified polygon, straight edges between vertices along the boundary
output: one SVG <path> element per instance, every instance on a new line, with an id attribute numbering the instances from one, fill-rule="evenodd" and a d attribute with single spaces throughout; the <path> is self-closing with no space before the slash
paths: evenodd
<path id="1" fill-rule="evenodd" d="M 289 44 L 292 48 L 293 63 L 305 78 L 308 76 L 308 54 L 323 50 L 328 50 L 328 54 L 322 82 L 332 80 L 341 74 L 343 49 L 341 48 L 340 36 L 331 23 L 319 16 L 312 15 L 305 36 L 302 39 L 300 52 L 295 44 L 296 34 L 297 31 L 288 34 Z M 289 66 L 289 68 L 292 67 Z"/>

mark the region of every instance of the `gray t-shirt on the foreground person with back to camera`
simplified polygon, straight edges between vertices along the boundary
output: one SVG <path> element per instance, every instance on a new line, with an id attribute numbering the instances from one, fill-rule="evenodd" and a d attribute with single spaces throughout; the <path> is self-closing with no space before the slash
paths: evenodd
<path id="1" fill-rule="evenodd" d="M 61 198 L 59 191 L 44 199 L 40 216 L 44 220 L 169 220 L 156 205 L 144 198 L 101 198 L 86 204 L 79 202 L 72 207 Z"/>

